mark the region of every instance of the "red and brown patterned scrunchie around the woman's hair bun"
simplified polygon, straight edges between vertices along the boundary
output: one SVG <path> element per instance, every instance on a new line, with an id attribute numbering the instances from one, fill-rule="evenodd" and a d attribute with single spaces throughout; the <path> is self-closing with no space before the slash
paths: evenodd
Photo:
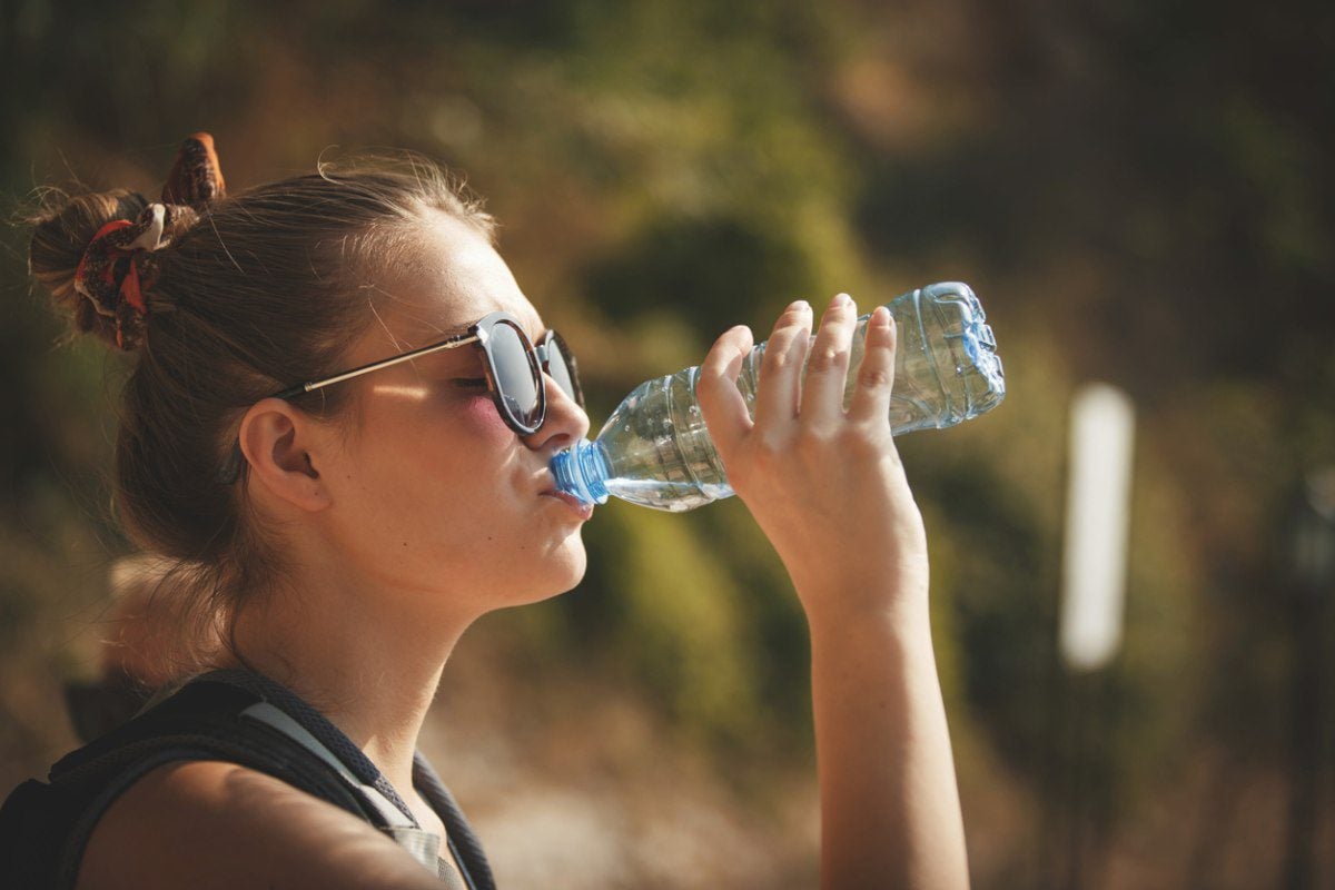
<path id="1" fill-rule="evenodd" d="M 170 243 L 166 232 L 183 212 L 204 209 L 223 196 L 226 184 L 214 137 L 194 133 L 182 144 L 162 201 L 150 204 L 136 220 L 117 219 L 92 236 L 75 268 L 75 291 L 93 311 L 115 320 L 116 346 L 135 350 L 144 339 L 147 291 L 156 274 L 152 254 Z"/>

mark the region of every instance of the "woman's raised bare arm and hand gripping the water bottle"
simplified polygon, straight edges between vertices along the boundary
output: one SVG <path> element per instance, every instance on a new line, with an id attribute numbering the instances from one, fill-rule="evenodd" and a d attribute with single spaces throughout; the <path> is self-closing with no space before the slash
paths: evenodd
<path id="1" fill-rule="evenodd" d="M 752 335 L 728 331 L 701 367 L 701 410 L 810 627 L 821 886 L 967 887 L 926 536 L 890 436 L 894 323 L 884 308 L 873 314 L 845 412 L 856 316 L 845 295 L 830 303 L 804 384 L 812 310 L 798 302 L 784 312 L 754 422 L 736 387 Z"/>

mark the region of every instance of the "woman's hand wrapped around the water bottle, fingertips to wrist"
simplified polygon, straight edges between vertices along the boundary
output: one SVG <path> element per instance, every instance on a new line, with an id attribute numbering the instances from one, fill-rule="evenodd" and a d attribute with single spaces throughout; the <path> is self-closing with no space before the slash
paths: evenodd
<path id="1" fill-rule="evenodd" d="M 725 332 L 701 366 L 698 396 L 728 480 L 788 568 L 812 622 L 925 615 L 922 518 L 890 436 L 894 320 L 877 308 L 848 412 L 857 308 L 840 294 L 821 319 L 805 384 L 812 308 L 788 307 L 760 370 L 756 419 L 736 380 L 750 331 Z"/>

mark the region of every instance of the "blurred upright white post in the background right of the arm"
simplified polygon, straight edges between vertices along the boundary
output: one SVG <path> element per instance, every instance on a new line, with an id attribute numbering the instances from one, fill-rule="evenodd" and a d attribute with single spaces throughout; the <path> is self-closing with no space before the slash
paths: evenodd
<path id="1" fill-rule="evenodd" d="M 1103 383 L 1076 392 L 1059 642 L 1077 671 L 1105 666 L 1121 643 L 1133 438 L 1124 392 Z"/>

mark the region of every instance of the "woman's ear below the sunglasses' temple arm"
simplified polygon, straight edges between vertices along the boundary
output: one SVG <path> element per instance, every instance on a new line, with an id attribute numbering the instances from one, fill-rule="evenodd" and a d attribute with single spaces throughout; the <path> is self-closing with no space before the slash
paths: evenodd
<path id="1" fill-rule="evenodd" d="M 310 418 L 283 399 L 264 399 L 242 418 L 242 454 L 250 476 L 282 500 L 316 512 L 330 506 L 330 494 L 315 468 L 326 442 Z"/>

